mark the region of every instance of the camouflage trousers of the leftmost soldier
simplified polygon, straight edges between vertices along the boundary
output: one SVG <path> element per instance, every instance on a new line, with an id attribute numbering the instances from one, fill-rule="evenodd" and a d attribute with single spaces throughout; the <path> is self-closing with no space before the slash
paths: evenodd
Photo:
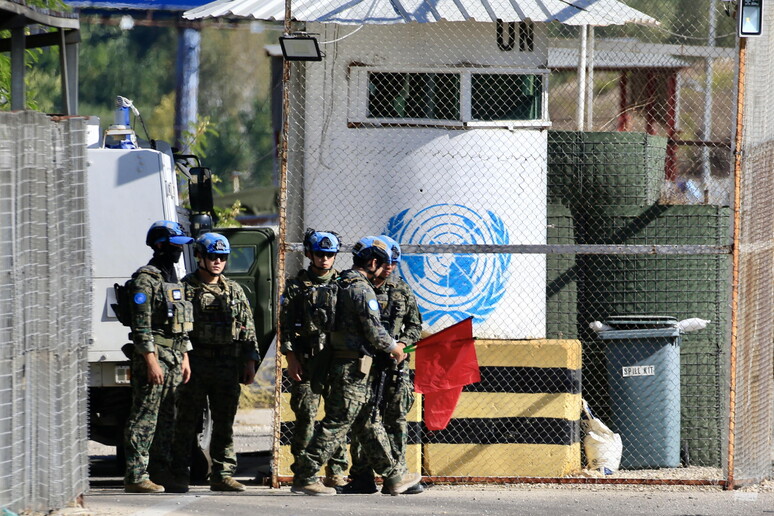
<path id="1" fill-rule="evenodd" d="M 156 354 L 164 373 L 161 385 L 148 383 L 145 358 L 141 353 L 132 355 L 132 408 L 124 431 L 127 484 L 147 480 L 149 462 L 156 471 L 172 465 L 175 396 L 183 381 L 183 354 L 162 346 L 156 346 Z"/>

